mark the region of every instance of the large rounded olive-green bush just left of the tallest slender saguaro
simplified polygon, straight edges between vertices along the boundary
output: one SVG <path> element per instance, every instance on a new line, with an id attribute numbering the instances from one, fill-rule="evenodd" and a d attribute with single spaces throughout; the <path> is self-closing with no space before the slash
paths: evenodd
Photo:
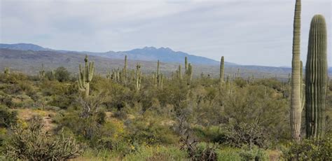
<path id="1" fill-rule="evenodd" d="M 288 113 L 289 104 L 282 95 L 263 85 L 250 85 L 235 88 L 225 97 L 223 125 L 256 124 L 266 132 L 265 138 L 275 143 L 289 139 Z"/>

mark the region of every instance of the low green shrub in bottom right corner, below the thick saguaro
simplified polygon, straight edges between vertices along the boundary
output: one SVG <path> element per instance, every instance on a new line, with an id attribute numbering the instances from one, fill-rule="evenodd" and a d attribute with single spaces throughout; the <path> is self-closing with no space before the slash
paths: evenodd
<path id="1" fill-rule="evenodd" d="M 284 149 L 282 157 L 286 160 L 331 160 L 332 139 L 304 139 L 291 143 Z"/>

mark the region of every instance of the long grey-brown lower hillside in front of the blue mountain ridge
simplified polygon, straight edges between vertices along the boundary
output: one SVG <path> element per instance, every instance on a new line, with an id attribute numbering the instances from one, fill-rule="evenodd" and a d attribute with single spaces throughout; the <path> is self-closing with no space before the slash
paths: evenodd
<path id="1" fill-rule="evenodd" d="M 154 49 L 153 49 L 154 50 Z M 142 61 L 135 60 L 130 57 L 139 50 L 132 51 L 128 54 L 129 69 L 134 69 L 137 63 L 140 63 L 144 73 L 151 73 L 156 69 L 156 61 Z M 138 56 L 137 56 L 138 57 Z M 124 55 L 116 58 L 102 57 L 91 55 L 90 59 L 95 61 L 97 73 L 102 75 L 109 69 L 117 69 L 123 67 Z M 65 66 L 70 72 L 76 73 L 78 71 L 78 64 L 82 63 L 84 55 L 78 52 L 57 51 L 57 50 L 11 50 L 0 49 L 0 69 L 9 66 L 12 71 L 22 71 L 24 73 L 36 74 L 41 69 L 41 64 L 45 65 L 46 70 L 52 70 L 59 66 Z M 219 76 L 219 64 L 196 64 L 192 59 L 195 57 L 188 57 L 188 61 L 194 66 L 194 76 L 200 76 L 200 73 L 209 74 L 210 76 Z M 182 59 L 181 64 L 184 64 Z M 170 75 L 172 71 L 177 70 L 179 62 L 163 62 L 161 61 L 160 71 Z M 240 66 L 232 63 L 226 63 L 226 75 L 233 76 L 240 69 L 242 77 L 256 76 L 256 77 L 275 77 L 287 78 L 291 71 L 289 68 L 278 68 L 269 66 Z M 184 65 L 182 65 L 184 67 Z"/>

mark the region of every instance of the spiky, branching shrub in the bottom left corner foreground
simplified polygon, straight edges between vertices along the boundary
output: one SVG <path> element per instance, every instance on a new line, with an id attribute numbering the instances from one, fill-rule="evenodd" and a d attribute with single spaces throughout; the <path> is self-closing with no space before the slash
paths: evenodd
<path id="1" fill-rule="evenodd" d="M 50 136 L 43 132 L 40 118 L 29 120 L 27 127 L 13 127 L 4 154 L 13 160 L 67 160 L 81 153 L 73 137 Z"/>

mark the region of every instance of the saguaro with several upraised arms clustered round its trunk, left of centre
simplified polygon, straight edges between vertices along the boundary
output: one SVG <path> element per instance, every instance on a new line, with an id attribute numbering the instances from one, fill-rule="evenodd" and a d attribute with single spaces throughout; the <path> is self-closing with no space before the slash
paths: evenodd
<path id="1" fill-rule="evenodd" d="M 84 68 L 82 68 L 81 64 L 79 65 L 80 73 L 78 74 L 78 87 L 81 91 L 85 92 L 85 98 L 88 98 L 90 92 L 90 82 L 93 74 L 95 73 L 95 63 L 88 62 L 88 55 L 85 55 L 84 62 Z"/>

